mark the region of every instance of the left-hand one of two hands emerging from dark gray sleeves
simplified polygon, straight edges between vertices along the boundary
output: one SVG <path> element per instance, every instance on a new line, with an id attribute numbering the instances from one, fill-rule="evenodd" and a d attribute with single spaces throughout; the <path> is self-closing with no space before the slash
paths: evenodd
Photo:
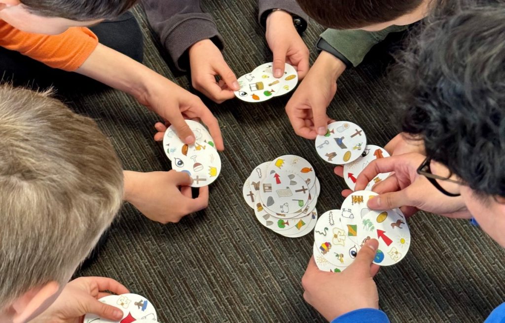
<path id="1" fill-rule="evenodd" d="M 223 54 L 210 39 L 201 40 L 189 48 L 193 88 L 216 103 L 234 98 L 238 91 L 237 77 L 224 61 Z M 221 80 L 216 82 L 216 76 Z"/>

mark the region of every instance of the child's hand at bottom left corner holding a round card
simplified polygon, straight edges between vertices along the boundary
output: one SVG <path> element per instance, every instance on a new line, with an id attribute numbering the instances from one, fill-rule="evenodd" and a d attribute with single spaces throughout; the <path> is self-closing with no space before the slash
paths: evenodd
<path id="1" fill-rule="evenodd" d="M 80 323 L 82 316 L 91 313 L 113 321 L 123 317 L 123 311 L 98 301 L 99 298 L 115 294 L 129 293 L 128 289 L 117 281 L 105 277 L 81 277 L 65 286 L 55 302 L 39 316 L 34 323 Z"/>

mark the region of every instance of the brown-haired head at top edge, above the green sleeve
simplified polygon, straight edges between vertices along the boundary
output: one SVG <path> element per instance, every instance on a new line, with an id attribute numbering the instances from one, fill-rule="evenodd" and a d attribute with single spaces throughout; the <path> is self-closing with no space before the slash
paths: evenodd
<path id="1" fill-rule="evenodd" d="M 431 0 L 296 0 L 301 9 L 323 26 L 376 31 L 409 25 L 426 16 Z"/>

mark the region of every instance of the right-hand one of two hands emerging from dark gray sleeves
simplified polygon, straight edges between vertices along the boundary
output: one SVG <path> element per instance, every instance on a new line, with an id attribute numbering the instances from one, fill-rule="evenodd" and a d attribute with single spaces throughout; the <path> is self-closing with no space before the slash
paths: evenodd
<path id="1" fill-rule="evenodd" d="M 294 28 L 291 15 L 282 10 L 272 12 L 267 18 L 265 37 L 274 54 L 274 77 L 284 75 L 284 63 L 287 62 L 298 71 L 298 78 L 302 80 L 309 72 L 309 48 Z"/>

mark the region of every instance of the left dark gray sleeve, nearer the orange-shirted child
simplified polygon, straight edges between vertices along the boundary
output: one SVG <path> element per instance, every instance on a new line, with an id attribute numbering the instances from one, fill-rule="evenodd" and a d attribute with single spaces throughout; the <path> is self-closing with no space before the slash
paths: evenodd
<path id="1" fill-rule="evenodd" d="M 160 37 L 175 66 L 189 69 L 187 50 L 200 40 L 211 39 L 219 49 L 223 41 L 210 14 L 199 0 L 141 0 L 149 24 Z"/>

